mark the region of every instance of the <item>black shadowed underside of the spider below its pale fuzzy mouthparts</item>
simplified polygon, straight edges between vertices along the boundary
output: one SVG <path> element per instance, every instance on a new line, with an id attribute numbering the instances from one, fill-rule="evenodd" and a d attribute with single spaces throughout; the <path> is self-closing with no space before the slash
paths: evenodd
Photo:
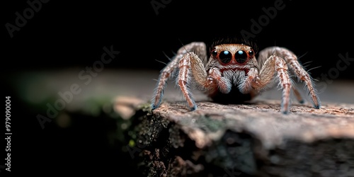
<path id="1" fill-rule="evenodd" d="M 215 93 L 211 93 L 209 96 L 212 98 L 212 101 L 223 104 L 239 104 L 244 103 L 244 101 L 250 101 L 252 99 L 251 93 L 241 93 L 239 88 L 234 85 L 232 85 L 232 89 L 229 93 L 216 91 Z"/>

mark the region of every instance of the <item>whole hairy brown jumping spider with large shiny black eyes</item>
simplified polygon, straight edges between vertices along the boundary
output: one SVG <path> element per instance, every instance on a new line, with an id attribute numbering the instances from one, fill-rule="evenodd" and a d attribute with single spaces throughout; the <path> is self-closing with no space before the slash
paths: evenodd
<path id="1" fill-rule="evenodd" d="M 282 89 L 280 111 L 290 110 L 290 93 L 303 103 L 302 96 L 293 86 L 290 76 L 304 81 L 314 108 L 320 107 L 312 77 L 304 70 L 297 56 L 285 47 L 267 47 L 258 53 L 252 42 L 246 40 L 217 40 L 210 46 L 204 42 L 191 42 L 181 47 L 171 62 L 161 70 L 152 109 L 158 108 L 166 81 L 177 74 L 176 84 L 181 88 L 190 110 L 197 108 L 189 87 L 198 86 L 213 101 L 242 103 L 254 98 L 261 91 L 278 81 Z M 210 56 L 210 57 L 209 57 Z"/>

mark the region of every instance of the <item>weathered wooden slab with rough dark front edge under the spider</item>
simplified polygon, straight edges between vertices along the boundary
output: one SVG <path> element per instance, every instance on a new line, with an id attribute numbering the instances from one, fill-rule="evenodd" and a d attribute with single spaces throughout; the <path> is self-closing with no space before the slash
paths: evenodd
<path id="1" fill-rule="evenodd" d="M 280 101 L 240 105 L 120 99 L 136 111 L 128 152 L 139 154 L 143 176 L 354 176 L 354 105 L 320 109 Z"/>

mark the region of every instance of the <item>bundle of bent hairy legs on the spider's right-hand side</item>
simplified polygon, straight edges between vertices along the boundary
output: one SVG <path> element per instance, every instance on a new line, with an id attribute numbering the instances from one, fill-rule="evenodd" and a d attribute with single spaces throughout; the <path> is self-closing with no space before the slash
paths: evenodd
<path id="1" fill-rule="evenodd" d="M 297 61 L 296 55 L 283 47 L 268 47 L 259 53 L 258 65 L 261 67 L 259 77 L 253 82 L 253 88 L 261 90 L 273 79 L 277 73 L 279 85 L 282 88 L 282 113 L 288 113 L 290 107 L 290 92 L 294 91 L 295 96 L 301 102 L 302 98 L 299 92 L 292 87 L 288 68 L 295 72 L 296 76 L 305 82 L 309 89 L 309 95 L 312 98 L 314 108 L 320 107 L 319 97 L 314 89 L 311 76 L 304 71 L 301 64 Z"/>

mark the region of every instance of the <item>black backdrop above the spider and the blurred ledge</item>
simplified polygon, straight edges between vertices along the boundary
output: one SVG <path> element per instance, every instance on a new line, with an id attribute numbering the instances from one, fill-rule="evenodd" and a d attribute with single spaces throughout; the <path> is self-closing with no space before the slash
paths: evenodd
<path id="1" fill-rule="evenodd" d="M 2 36 L 6 70 L 58 69 L 86 66 L 101 57 L 103 46 L 113 45 L 120 58 L 107 67 L 161 69 L 182 43 L 210 41 L 220 35 L 251 32 L 251 19 L 265 15 L 274 1 L 173 1 L 156 15 L 151 1 L 49 1 L 10 38 L 4 24 L 15 23 L 25 1 L 5 1 Z M 156 0 L 159 2 L 159 0 Z M 159 2 L 161 3 L 161 2 Z M 256 34 L 258 47 L 280 45 L 297 55 L 314 77 L 336 66 L 338 54 L 353 49 L 350 28 L 353 9 L 346 2 L 309 4 L 282 1 L 285 8 Z M 3 70 L 4 71 L 4 70 Z M 341 72 L 352 79 L 353 69 Z"/>

